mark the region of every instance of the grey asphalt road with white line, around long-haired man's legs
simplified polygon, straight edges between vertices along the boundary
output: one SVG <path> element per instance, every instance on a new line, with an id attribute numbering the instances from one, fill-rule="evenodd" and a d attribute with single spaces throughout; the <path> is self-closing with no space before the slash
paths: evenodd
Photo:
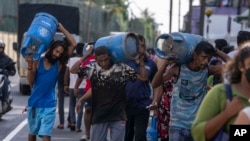
<path id="1" fill-rule="evenodd" d="M 27 141 L 28 140 L 28 126 L 26 114 L 22 114 L 22 109 L 27 103 L 29 96 L 21 95 L 19 92 L 19 76 L 10 77 L 12 84 L 13 109 L 2 116 L 0 120 L 0 140 L 1 141 Z M 65 123 L 67 124 L 69 97 L 65 97 Z M 69 128 L 57 129 L 59 123 L 58 114 L 56 116 L 55 125 L 53 128 L 53 141 L 78 141 L 84 134 L 84 124 L 82 125 L 83 132 L 73 132 Z M 42 141 L 41 138 L 37 138 Z"/>

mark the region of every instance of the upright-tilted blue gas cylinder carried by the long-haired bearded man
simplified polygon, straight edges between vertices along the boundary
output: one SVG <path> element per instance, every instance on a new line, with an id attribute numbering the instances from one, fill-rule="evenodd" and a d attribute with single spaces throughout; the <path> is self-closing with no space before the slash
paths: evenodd
<path id="1" fill-rule="evenodd" d="M 58 27 L 57 19 L 44 12 L 37 13 L 23 36 L 21 54 L 23 57 L 30 55 L 33 60 L 38 60 L 40 55 L 47 50 Z"/>

